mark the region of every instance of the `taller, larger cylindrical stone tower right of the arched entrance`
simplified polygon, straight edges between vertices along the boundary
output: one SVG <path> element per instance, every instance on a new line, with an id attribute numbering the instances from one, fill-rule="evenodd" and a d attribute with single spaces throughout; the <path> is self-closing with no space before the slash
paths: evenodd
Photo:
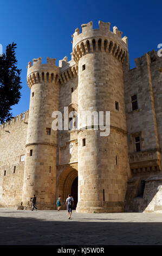
<path id="1" fill-rule="evenodd" d="M 110 23 L 82 25 L 73 35 L 73 56 L 78 64 L 79 117 L 82 111 L 110 111 L 110 134 L 101 136 L 99 126 L 78 127 L 77 212 L 121 212 L 130 173 L 123 80 L 127 38 Z M 98 128 L 98 130 L 95 130 Z"/>

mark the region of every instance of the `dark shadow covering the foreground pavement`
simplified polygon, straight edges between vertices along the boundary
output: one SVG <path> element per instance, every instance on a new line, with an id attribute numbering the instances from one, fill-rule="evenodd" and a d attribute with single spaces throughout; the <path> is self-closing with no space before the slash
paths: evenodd
<path id="1" fill-rule="evenodd" d="M 0 217 L 0 245 L 162 245 L 162 223 Z"/>

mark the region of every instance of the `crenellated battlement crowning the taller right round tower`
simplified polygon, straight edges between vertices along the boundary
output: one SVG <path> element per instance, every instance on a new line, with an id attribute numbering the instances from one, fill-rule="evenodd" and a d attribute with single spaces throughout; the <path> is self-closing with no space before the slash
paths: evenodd
<path id="1" fill-rule="evenodd" d="M 82 33 L 79 28 L 75 29 L 73 37 L 73 57 L 76 63 L 79 59 L 93 52 L 111 53 L 121 63 L 124 62 L 128 51 L 127 36 L 121 38 L 122 32 L 117 27 L 110 31 L 109 22 L 99 21 L 99 29 L 93 29 L 93 23 L 82 24 Z"/>

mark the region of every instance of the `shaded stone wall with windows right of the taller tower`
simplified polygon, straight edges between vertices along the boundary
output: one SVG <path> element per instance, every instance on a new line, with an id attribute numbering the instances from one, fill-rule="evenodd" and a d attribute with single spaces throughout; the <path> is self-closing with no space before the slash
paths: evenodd
<path id="1" fill-rule="evenodd" d="M 127 182 L 126 211 L 153 211 L 159 205 L 161 170 L 161 63 L 157 53 L 135 59 L 136 67 L 125 71 L 125 101 L 129 163 L 132 178 Z M 132 111 L 131 96 L 136 94 L 138 109 Z M 141 151 L 136 152 L 134 137 L 140 136 Z M 144 194 L 141 182 L 145 182 Z M 161 200 L 159 200 L 161 202 Z M 160 209 L 160 206 L 157 206 Z"/>

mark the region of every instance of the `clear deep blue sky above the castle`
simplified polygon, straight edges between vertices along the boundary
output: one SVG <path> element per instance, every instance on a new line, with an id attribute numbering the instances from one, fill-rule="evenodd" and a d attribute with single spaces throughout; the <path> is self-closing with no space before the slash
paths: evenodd
<path id="1" fill-rule="evenodd" d="M 15 0 L 1 1 L 0 44 L 5 47 L 16 42 L 18 68 L 22 69 L 21 100 L 12 108 L 13 116 L 29 109 L 30 89 L 27 86 L 27 64 L 33 58 L 59 59 L 72 52 L 72 34 L 81 24 L 93 21 L 98 28 L 99 20 L 111 22 L 128 36 L 131 68 L 134 58 L 157 49 L 162 44 L 162 2 L 154 0 L 136 1 L 55 1 Z"/>

